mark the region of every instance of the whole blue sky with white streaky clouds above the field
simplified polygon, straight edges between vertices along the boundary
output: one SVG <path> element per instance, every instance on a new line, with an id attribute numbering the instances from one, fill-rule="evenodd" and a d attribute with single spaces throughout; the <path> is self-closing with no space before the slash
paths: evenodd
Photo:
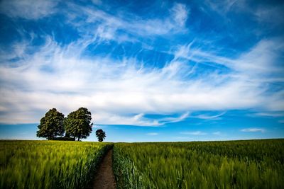
<path id="1" fill-rule="evenodd" d="M 88 108 L 96 141 L 284 138 L 283 1 L 0 1 L 0 139 Z"/>

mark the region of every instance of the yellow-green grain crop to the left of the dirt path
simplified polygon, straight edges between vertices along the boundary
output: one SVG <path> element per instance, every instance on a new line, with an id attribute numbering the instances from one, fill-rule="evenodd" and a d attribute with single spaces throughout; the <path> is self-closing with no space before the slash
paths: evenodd
<path id="1" fill-rule="evenodd" d="M 1 141 L 0 188 L 84 188 L 111 145 Z"/>

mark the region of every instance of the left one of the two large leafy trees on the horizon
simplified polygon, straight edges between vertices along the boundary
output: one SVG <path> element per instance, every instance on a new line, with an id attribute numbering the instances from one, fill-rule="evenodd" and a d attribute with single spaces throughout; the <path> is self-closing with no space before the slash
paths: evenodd
<path id="1" fill-rule="evenodd" d="M 37 137 L 53 139 L 56 136 L 62 136 L 64 133 L 64 115 L 55 108 L 50 109 L 45 116 L 40 119 L 38 125 Z"/>

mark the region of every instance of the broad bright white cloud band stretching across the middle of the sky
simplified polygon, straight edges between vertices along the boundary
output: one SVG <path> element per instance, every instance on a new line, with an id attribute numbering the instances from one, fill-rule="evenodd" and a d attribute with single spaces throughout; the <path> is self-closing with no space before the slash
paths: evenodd
<path id="1" fill-rule="evenodd" d="M 282 110 L 283 92 L 270 93 L 275 59 L 280 42 L 263 40 L 239 58 L 229 59 L 188 47 L 161 69 L 148 68 L 135 58 L 122 60 L 109 56 L 82 57 L 82 52 L 96 39 L 81 39 L 61 47 L 52 38 L 45 45 L 33 47 L 17 43 L 11 57 L 1 57 L 0 122 L 38 122 L 50 108 L 70 113 L 87 107 L 97 124 L 160 126 L 179 122 L 195 110 L 230 110 L 254 108 Z M 17 50 L 21 47 L 21 50 Z M 4 54 L 3 54 L 4 55 Z M 15 57 L 18 60 L 15 62 Z M 228 67 L 227 74 L 208 73 L 187 79 L 192 72 L 188 60 L 199 64 L 205 59 Z M 13 62 L 16 67 L 10 67 Z M 257 62 L 257 64 L 256 64 Z M 252 64 L 252 65 L 251 65 Z M 283 79 L 283 76 L 278 76 Z M 146 114 L 165 115 L 160 119 Z M 179 113 L 179 116 L 172 116 Z M 199 115 L 217 119 L 220 115 Z"/>

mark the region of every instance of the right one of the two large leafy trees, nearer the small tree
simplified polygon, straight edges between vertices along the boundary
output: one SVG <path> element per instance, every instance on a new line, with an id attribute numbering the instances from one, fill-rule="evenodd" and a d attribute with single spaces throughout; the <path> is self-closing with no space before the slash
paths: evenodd
<path id="1" fill-rule="evenodd" d="M 92 115 L 87 108 L 79 108 L 78 110 L 67 115 L 65 119 L 65 132 L 72 137 L 85 139 L 92 132 Z"/>

